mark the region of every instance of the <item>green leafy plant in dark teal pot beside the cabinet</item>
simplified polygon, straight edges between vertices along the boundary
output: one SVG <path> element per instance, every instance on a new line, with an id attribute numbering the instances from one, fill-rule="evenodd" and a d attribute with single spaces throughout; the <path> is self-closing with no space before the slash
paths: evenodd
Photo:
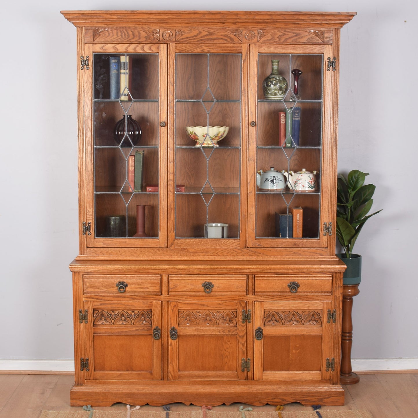
<path id="1" fill-rule="evenodd" d="M 336 234 L 344 253 L 336 255 L 347 265 L 344 272 L 345 285 L 360 283 L 362 257 L 353 254 L 354 243 L 367 219 L 382 210 L 368 215 L 376 188 L 374 184 L 364 184 L 368 175 L 352 170 L 347 177 L 339 174 L 337 179 Z"/>

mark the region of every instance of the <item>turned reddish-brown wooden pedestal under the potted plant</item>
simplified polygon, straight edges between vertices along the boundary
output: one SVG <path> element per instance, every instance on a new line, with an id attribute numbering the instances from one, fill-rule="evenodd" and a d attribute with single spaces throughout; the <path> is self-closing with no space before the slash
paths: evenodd
<path id="1" fill-rule="evenodd" d="M 351 318 L 353 297 L 358 295 L 359 285 L 343 285 L 342 291 L 342 332 L 341 332 L 341 372 L 342 385 L 354 385 L 360 377 L 351 369 L 351 347 L 353 344 L 353 321 Z"/>

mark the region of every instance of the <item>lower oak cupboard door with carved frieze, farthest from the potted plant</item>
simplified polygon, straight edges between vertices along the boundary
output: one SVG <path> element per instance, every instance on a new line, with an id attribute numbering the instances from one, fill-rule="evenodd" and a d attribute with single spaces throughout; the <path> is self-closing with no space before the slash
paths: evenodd
<path id="1" fill-rule="evenodd" d="M 84 309 L 87 380 L 161 379 L 160 301 L 86 301 Z"/>

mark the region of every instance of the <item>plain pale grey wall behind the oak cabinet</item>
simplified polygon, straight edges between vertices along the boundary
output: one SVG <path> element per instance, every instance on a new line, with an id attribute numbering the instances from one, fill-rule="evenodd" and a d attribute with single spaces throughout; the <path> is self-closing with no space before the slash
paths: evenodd
<path id="1" fill-rule="evenodd" d="M 196 10 L 184 0 L 181 8 Z M 60 10 L 154 9 L 137 1 L 2 7 L 0 359 L 71 359 L 78 251 L 76 29 Z M 158 9 L 176 9 L 161 0 Z M 418 358 L 416 97 L 418 6 L 409 0 L 213 0 L 210 10 L 356 11 L 341 32 L 339 171 L 367 171 L 374 208 L 355 252 L 353 358 Z"/>

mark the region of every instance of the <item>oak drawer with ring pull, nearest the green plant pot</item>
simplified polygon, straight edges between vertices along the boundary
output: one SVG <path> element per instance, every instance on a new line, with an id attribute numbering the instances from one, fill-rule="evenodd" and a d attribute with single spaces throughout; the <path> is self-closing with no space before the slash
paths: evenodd
<path id="1" fill-rule="evenodd" d="M 331 295 L 332 276 L 255 276 L 255 294 L 306 294 Z"/>

